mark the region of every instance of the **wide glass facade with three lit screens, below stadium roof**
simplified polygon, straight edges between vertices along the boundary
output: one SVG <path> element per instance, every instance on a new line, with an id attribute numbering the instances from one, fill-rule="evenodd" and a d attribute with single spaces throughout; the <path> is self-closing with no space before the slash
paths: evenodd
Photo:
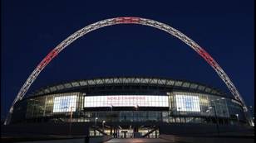
<path id="1" fill-rule="evenodd" d="M 181 91 L 116 96 L 57 93 L 17 102 L 12 122 L 95 122 L 97 117 L 98 121 L 106 122 L 246 123 L 243 108 L 233 100 Z"/>

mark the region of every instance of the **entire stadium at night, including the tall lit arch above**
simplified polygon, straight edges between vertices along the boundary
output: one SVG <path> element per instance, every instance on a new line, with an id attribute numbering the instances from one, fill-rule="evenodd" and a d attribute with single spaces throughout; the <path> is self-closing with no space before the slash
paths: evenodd
<path id="1" fill-rule="evenodd" d="M 118 24 L 155 27 L 185 42 L 214 69 L 230 93 L 186 80 L 111 77 L 58 83 L 27 95 L 37 76 L 68 45 L 90 31 Z M 116 17 L 83 27 L 52 49 L 20 88 L 4 125 L 5 132 L 26 133 L 26 136 L 30 133 L 157 138 L 234 132 L 241 135 L 251 131 L 254 122 L 229 76 L 188 36 L 159 21 Z"/>

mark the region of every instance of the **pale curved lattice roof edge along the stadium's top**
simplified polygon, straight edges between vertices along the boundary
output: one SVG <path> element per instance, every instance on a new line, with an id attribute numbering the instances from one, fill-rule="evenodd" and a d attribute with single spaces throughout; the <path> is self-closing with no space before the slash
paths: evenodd
<path id="1" fill-rule="evenodd" d="M 177 88 L 190 88 L 194 90 L 199 90 L 204 93 L 226 95 L 219 88 L 214 88 L 212 86 L 191 82 L 188 80 L 178 80 L 178 79 L 167 79 L 160 77 L 135 77 L 135 76 L 126 76 L 126 77 L 101 77 L 101 78 L 92 78 L 92 79 L 79 79 L 72 80 L 70 82 L 62 82 L 52 84 L 51 86 L 46 86 L 38 89 L 35 92 L 30 93 L 28 96 L 37 96 L 43 94 L 54 93 L 57 91 L 62 91 L 63 89 L 69 88 L 78 88 L 86 86 L 96 86 L 104 84 L 149 84 L 155 86 L 166 86 L 166 87 L 177 87 Z"/>

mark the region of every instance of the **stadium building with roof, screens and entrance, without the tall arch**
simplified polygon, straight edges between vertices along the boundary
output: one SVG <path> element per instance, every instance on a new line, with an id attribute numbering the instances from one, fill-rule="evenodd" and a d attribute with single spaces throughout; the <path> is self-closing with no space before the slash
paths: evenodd
<path id="1" fill-rule="evenodd" d="M 41 88 L 18 101 L 11 124 L 86 122 L 90 136 L 158 136 L 165 124 L 249 126 L 241 102 L 202 83 L 116 77 Z M 154 126 L 153 126 L 154 125 Z"/>

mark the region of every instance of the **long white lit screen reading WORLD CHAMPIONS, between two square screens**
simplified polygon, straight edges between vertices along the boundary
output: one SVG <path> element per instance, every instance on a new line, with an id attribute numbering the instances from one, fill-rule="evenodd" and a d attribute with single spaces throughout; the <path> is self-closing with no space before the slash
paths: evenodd
<path id="1" fill-rule="evenodd" d="M 114 95 L 87 96 L 84 107 L 169 107 L 168 96 Z"/>

